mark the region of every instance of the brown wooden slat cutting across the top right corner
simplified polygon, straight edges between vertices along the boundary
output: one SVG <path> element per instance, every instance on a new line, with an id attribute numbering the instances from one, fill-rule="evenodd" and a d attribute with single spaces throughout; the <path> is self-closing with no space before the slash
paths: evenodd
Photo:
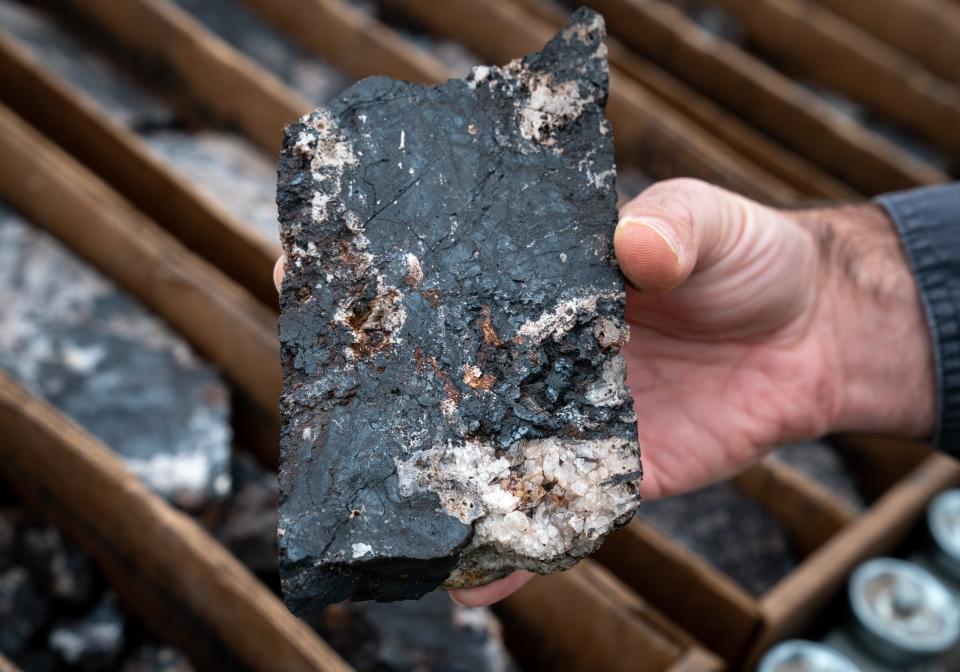
<path id="1" fill-rule="evenodd" d="M 884 42 L 960 83 L 960 5 L 949 0 L 817 0 Z"/>

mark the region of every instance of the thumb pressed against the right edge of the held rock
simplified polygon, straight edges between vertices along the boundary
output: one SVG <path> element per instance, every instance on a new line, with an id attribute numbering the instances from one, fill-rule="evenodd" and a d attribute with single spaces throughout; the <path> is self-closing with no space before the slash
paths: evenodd
<path id="1" fill-rule="evenodd" d="M 735 239 L 746 203 L 690 178 L 650 186 L 620 211 L 613 237 L 620 270 L 641 290 L 677 287 Z"/>

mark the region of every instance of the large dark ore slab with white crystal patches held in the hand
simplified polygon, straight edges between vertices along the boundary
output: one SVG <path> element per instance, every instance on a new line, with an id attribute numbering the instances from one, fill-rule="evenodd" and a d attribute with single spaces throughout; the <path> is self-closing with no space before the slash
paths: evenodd
<path id="1" fill-rule="evenodd" d="M 568 568 L 639 503 L 603 22 L 372 78 L 278 167 L 280 572 L 297 613 Z"/>

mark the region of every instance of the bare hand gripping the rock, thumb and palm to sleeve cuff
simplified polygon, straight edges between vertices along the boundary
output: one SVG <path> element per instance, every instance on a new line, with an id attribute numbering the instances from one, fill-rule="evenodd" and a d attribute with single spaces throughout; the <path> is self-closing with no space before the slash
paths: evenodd
<path id="1" fill-rule="evenodd" d="M 668 180 L 622 208 L 614 247 L 632 285 L 623 354 L 645 499 L 830 431 L 932 432 L 930 336 L 877 206 L 776 210 Z M 451 595 L 486 605 L 530 577 Z"/>

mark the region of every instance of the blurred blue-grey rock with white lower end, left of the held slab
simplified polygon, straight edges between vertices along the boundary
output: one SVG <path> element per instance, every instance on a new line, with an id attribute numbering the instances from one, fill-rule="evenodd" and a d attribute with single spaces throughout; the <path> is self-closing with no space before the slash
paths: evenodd
<path id="1" fill-rule="evenodd" d="M 0 369 L 184 506 L 230 490 L 229 395 L 166 325 L 0 204 Z"/>

